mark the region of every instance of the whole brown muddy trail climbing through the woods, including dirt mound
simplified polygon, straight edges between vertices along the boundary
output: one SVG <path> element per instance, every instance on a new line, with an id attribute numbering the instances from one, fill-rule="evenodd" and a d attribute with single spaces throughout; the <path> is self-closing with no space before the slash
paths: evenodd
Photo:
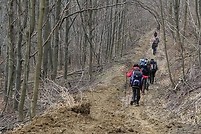
<path id="1" fill-rule="evenodd" d="M 131 53 L 121 59 L 122 62 L 101 74 L 98 81 L 80 95 L 81 104 L 66 107 L 63 104 L 51 109 L 32 122 L 10 132 L 12 134 L 189 134 L 201 133 L 190 124 L 180 123 L 176 117 L 170 117 L 166 109 L 164 90 L 169 86 L 166 60 L 163 46 L 153 57 L 148 45 L 151 34 L 140 40 Z M 148 50 L 148 51 L 147 51 Z M 143 54 L 143 52 L 146 52 Z M 132 64 L 142 57 L 154 58 L 159 71 L 156 83 L 150 85 L 141 96 L 140 106 L 131 106 L 131 88 L 125 86 L 125 73 Z M 131 64 L 128 64 L 131 63 Z"/>

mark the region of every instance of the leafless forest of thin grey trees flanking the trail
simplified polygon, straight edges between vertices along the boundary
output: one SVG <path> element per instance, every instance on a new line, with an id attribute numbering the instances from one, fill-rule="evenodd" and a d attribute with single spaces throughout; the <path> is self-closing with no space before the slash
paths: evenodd
<path id="1" fill-rule="evenodd" d="M 170 109 L 193 105 L 200 125 L 201 0 L 1 0 L 0 14 L 0 132 L 79 103 L 125 56 L 147 56 L 150 31 L 160 33 Z"/>

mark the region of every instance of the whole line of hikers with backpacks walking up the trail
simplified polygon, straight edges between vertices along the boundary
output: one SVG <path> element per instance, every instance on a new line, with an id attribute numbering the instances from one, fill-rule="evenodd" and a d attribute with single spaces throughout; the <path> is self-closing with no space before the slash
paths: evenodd
<path id="1" fill-rule="evenodd" d="M 153 55 L 156 54 L 159 39 L 157 32 L 154 33 L 155 40 L 152 40 Z M 140 94 L 144 95 L 145 90 L 148 91 L 149 85 L 154 83 L 155 73 L 158 70 L 157 62 L 154 59 L 140 59 L 139 63 L 133 65 L 132 69 L 126 73 L 126 77 L 130 77 L 129 85 L 132 87 L 132 99 L 130 104 L 139 106 Z"/>

